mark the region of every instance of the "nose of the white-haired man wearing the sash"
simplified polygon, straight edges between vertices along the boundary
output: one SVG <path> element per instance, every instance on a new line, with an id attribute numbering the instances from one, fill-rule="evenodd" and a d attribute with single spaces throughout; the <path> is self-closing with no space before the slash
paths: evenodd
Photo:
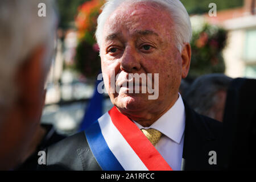
<path id="1" fill-rule="evenodd" d="M 140 56 L 135 48 L 131 46 L 125 48 L 121 58 L 120 69 L 128 73 L 141 69 Z"/>

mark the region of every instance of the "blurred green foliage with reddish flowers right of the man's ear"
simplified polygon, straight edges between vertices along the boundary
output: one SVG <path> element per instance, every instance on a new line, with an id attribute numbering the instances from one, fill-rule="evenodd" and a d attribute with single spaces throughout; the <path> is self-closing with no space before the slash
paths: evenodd
<path id="1" fill-rule="evenodd" d="M 226 38 L 226 30 L 209 24 L 205 24 L 201 31 L 193 32 L 189 78 L 225 72 L 222 49 L 225 47 Z"/>

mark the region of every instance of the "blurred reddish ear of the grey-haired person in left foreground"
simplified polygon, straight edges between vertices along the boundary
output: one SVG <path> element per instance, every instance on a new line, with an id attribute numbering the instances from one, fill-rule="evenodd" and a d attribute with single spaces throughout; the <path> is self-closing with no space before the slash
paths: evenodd
<path id="1" fill-rule="evenodd" d="M 19 89 L 18 103 L 28 118 L 35 118 L 42 108 L 44 97 L 43 56 L 45 48 L 38 46 L 20 65 L 16 83 Z"/>

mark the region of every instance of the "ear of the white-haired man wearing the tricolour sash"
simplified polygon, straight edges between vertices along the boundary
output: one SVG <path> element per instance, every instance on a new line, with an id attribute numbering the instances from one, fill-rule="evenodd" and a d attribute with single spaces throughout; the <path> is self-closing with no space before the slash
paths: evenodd
<path id="1" fill-rule="evenodd" d="M 189 43 L 185 43 L 183 46 L 183 50 L 181 52 L 181 59 L 182 59 L 182 78 L 187 77 L 190 61 L 191 61 L 191 46 Z"/>

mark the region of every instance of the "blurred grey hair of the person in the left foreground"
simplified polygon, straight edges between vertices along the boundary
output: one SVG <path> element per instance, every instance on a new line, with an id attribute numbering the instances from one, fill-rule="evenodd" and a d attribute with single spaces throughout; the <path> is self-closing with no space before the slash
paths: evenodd
<path id="1" fill-rule="evenodd" d="M 45 3 L 46 17 L 38 16 L 39 3 Z M 53 3 L 51 0 L 0 1 L 0 117 L 18 93 L 14 84 L 16 69 L 36 46 L 45 45 L 42 68 L 45 72 L 49 70 L 57 27 Z"/>

